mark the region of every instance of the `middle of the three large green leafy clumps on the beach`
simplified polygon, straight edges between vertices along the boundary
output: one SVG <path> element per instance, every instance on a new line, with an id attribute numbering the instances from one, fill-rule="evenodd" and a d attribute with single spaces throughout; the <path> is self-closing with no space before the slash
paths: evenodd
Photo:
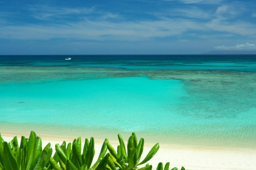
<path id="1" fill-rule="evenodd" d="M 66 142 L 64 141 L 62 145 L 59 144 L 55 145 L 56 153 L 59 155 L 59 164 L 60 167 L 64 170 L 87 170 L 91 169 L 94 170 L 97 168 L 98 164 L 102 161 L 106 161 L 104 158 L 104 155 L 107 152 L 107 143 L 108 139 L 105 139 L 98 160 L 93 164 L 93 166 L 90 168 L 92 164 L 92 160 L 95 155 L 94 150 L 94 138 L 90 138 L 89 140 L 85 139 L 85 145 L 83 147 L 83 153 L 81 153 L 82 145 L 81 145 L 81 137 L 75 139 L 72 143 L 68 143 L 66 146 Z M 57 162 L 54 160 L 50 160 L 50 163 L 52 165 L 56 165 Z"/>

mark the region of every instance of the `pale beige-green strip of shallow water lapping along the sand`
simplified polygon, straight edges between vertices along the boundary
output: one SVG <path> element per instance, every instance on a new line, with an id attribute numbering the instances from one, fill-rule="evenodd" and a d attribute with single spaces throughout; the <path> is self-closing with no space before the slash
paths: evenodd
<path id="1" fill-rule="evenodd" d="M 30 134 L 34 131 L 38 136 L 52 136 L 54 138 L 88 138 L 93 137 L 102 141 L 107 138 L 109 141 L 118 141 L 117 134 L 121 134 L 124 141 L 135 132 L 138 141 L 144 138 L 145 143 L 156 144 L 172 147 L 199 147 L 199 148 L 213 148 L 213 149 L 231 149 L 231 150 L 255 150 L 256 145 L 253 134 L 248 138 L 244 136 L 236 136 L 232 138 L 224 136 L 213 136 L 211 134 L 171 134 L 158 133 L 148 131 L 122 131 L 115 128 L 104 127 L 84 127 L 77 125 L 52 125 L 52 124 L 35 124 L 35 123 L 11 123 L 0 121 L 0 133 L 14 133 L 14 134 Z M 20 135 L 21 136 L 21 135 Z M 14 136 L 13 136 L 14 137 Z"/>

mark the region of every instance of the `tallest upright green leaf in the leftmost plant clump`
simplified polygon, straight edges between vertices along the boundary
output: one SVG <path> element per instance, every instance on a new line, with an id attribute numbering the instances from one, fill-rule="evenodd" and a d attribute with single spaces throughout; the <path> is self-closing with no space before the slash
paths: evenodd
<path id="1" fill-rule="evenodd" d="M 29 142 L 28 142 L 28 152 L 26 153 L 27 158 L 26 158 L 26 164 L 25 164 L 25 169 L 29 170 L 30 165 L 33 162 L 33 155 L 35 152 L 35 147 L 36 147 L 36 134 L 35 132 L 31 131 L 30 136 L 29 136 Z"/>

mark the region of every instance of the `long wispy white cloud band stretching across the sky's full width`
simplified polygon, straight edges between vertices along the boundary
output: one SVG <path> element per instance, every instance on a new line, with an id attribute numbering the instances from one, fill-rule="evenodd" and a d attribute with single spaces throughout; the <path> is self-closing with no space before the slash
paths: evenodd
<path id="1" fill-rule="evenodd" d="M 50 40 L 54 38 L 97 40 L 97 41 L 145 41 L 149 38 L 164 38 L 170 36 L 184 36 L 186 32 L 193 32 L 200 38 L 202 34 L 197 32 L 217 31 L 218 36 L 238 34 L 242 36 L 256 34 L 255 24 L 236 22 L 223 22 L 221 19 L 210 20 L 201 23 L 191 19 L 161 18 L 156 21 L 123 21 L 113 22 L 106 18 L 117 18 L 118 15 L 106 14 L 97 20 L 69 21 L 66 23 L 51 23 L 44 26 L 27 24 L 20 26 L 2 26 L 0 36 L 6 39 L 32 39 Z M 209 37 L 214 37 L 213 34 Z"/>

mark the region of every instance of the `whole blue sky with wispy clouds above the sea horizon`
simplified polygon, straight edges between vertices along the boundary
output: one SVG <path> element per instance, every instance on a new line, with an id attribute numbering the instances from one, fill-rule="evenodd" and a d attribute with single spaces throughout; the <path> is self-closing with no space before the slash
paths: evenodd
<path id="1" fill-rule="evenodd" d="M 256 50 L 255 0 L 0 0 L 0 55 Z"/>

